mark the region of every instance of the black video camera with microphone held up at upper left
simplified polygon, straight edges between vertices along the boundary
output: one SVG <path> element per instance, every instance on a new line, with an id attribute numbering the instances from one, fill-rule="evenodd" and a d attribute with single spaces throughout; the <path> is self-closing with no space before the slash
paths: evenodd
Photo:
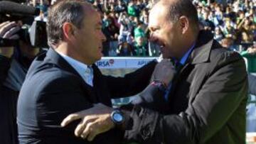
<path id="1" fill-rule="evenodd" d="M 0 1 L 0 23 L 4 21 L 21 21 L 23 26 L 18 32 L 20 40 L 30 43 L 35 48 L 48 48 L 46 22 L 34 21 L 39 9 L 12 1 Z M 18 40 L 0 38 L 0 46 L 15 46 Z"/>

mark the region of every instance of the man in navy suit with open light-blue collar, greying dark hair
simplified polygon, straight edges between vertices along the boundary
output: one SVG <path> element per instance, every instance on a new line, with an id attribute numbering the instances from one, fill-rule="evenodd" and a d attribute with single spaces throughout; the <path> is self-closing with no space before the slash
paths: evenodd
<path id="1" fill-rule="evenodd" d="M 102 57 L 105 36 L 100 15 L 85 1 L 55 4 L 47 28 L 52 48 L 33 61 L 18 98 L 19 142 L 88 143 L 75 137 L 76 125 L 60 127 L 63 118 L 97 103 L 112 106 L 111 98 L 142 91 L 156 62 L 124 78 L 102 75 L 93 63 Z M 92 143 L 119 143 L 122 134 L 112 129 Z"/>

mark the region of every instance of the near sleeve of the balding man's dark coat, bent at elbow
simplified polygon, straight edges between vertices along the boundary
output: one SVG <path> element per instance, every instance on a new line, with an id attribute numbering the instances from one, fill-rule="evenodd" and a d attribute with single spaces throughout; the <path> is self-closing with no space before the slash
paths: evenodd
<path id="1" fill-rule="evenodd" d="M 133 124 L 125 131 L 124 139 L 139 143 L 206 143 L 247 100 L 247 73 L 242 57 L 223 53 L 216 60 L 212 74 L 185 111 L 162 115 L 134 106 L 130 114 Z"/>

